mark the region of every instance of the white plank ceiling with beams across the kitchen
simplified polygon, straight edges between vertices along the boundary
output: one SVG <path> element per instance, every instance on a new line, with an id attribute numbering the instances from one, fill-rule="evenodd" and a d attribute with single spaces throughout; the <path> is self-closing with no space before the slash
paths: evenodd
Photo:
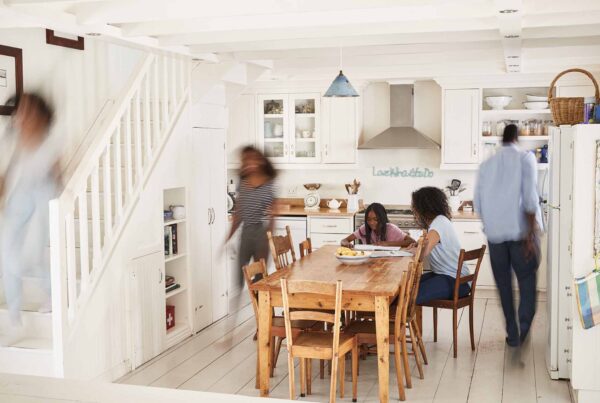
<path id="1" fill-rule="evenodd" d="M 0 0 L 16 27 L 271 60 L 271 79 L 331 79 L 340 48 L 353 79 L 600 70 L 597 0 Z"/>

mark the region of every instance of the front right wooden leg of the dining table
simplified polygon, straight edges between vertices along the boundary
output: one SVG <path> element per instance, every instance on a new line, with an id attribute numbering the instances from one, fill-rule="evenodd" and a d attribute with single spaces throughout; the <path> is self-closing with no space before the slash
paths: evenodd
<path id="1" fill-rule="evenodd" d="M 379 374 L 379 401 L 389 399 L 390 377 L 390 310 L 387 297 L 375 297 L 375 329 L 377 332 L 377 370 Z"/>

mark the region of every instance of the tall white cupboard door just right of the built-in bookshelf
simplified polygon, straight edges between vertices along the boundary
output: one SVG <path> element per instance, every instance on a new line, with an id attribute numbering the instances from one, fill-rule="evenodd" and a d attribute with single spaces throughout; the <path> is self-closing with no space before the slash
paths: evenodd
<path id="1" fill-rule="evenodd" d="M 228 313 L 228 280 L 224 242 L 228 228 L 225 130 L 195 128 L 192 134 L 195 178 L 191 243 L 194 284 L 194 329 Z"/>

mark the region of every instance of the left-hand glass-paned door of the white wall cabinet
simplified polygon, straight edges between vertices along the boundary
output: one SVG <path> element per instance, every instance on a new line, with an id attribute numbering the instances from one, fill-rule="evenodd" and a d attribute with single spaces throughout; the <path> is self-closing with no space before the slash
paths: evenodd
<path id="1" fill-rule="evenodd" d="M 258 133 L 263 152 L 272 162 L 289 161 L 287 95 L 258 97 Z"/>

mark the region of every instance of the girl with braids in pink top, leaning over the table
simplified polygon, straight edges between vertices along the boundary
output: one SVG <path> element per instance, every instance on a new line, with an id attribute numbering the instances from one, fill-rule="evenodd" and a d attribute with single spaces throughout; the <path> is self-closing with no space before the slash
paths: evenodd
<path id="1" fill-rule="evenodd" d="M 359 240 L 363 244 L 381 246 L 409 246 L 415 243 L 408 234 L 390 223 L 385 208 L 379 203 L 371 203 L 365 210 L 365 224 L 342 239 L 342 246 Z"/>

